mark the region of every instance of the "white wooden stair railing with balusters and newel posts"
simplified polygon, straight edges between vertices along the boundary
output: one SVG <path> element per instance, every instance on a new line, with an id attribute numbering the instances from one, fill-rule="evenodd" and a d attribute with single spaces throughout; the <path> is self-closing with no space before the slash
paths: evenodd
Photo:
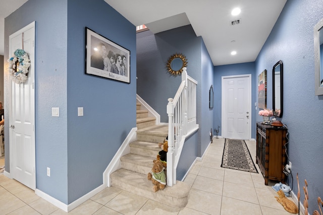
<path id="1" fill-rule="evenodd" d="M 197 81 L 187 75 L 184 67 L 182 83 L 174 99 L 168 99 L 168 186 L 176 184 L 176 169 L 185 138 L 198 129 L 198 124 L 196 124 L 196 85 Z"/>

